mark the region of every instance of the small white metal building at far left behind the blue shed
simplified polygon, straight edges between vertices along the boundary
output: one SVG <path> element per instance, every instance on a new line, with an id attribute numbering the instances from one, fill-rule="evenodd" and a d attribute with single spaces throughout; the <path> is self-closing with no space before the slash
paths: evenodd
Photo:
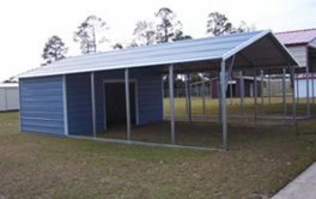
<path id="1" fill-rule="evenodd" d="M 19 85 L 0 84 L 0 111 L 19 110 Z"/>

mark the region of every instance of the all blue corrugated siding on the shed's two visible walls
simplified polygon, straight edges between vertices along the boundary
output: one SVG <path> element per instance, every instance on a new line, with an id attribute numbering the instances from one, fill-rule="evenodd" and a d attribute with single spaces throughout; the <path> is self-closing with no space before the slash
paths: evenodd
<path id="1" fill-rule="evenodd" d="M 97 131 L 106 129 L 103 79 L 124 79 L 124 71 L 95 73 Z M 160 73 L 130 71 L 137 79 L 139 124 L 162 121 Z M 64 135 L 62 76 L 20 79 L 21 130 Z M 69 134 L 92 134 L 90 73 L 66 76 Z M 115 105 L 114 105 L 115 106 Z"/>

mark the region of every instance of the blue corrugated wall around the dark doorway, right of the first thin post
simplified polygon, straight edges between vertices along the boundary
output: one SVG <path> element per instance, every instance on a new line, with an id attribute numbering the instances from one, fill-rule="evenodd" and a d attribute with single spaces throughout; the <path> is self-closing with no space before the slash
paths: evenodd
<path id="1" fill-rule="evenodd" d="M 97 130 L 106 129 L 104 115 L 103 79 L 124 79 L 124 71 L 106 71 L 95 74 L 95 100 Z M 139 124 L 162 121 L 161 75 L 155 68 L 130 70 L 130 79 L 137 79 Z M 115 105 L 114 105 L 115 106 Z"/>

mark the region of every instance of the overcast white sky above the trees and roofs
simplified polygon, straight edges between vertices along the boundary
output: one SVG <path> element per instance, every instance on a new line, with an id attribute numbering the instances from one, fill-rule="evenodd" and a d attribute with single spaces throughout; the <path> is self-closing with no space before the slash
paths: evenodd
<path id="1" fill-rule="evenodd" d="M 2 0 L 0 80 L 38 67 L 44 44 L 54 34 L 70 48 L 68 56 L 78 54 L 73 32 L 89 15 L 108 23 L 106 36 L 113 44 L 131 40 L 135 23 L 152 19 L 161 7 L 171 8 L 185 34 L 194 38 L 206 36 L 207 15 L 213 11 L 225 14 L 236 25 L 244 20 L 258 30 L 316 28 L 315 0 Z"/>

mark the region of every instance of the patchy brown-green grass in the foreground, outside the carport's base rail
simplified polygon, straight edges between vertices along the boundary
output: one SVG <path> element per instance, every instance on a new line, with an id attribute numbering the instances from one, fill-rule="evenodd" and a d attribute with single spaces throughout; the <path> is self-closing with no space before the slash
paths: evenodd
<path id="1" fill-rule="evenodd" d="M 301 133 L 316 133 L 315 124 L 302 122 Z M 316 135 L 283 126 L 236 130 L 230 152 L 23 134 L 18 126 L 18 113 L 0 113 L 1 199 L 260 198 L 316 157 Z"/>

